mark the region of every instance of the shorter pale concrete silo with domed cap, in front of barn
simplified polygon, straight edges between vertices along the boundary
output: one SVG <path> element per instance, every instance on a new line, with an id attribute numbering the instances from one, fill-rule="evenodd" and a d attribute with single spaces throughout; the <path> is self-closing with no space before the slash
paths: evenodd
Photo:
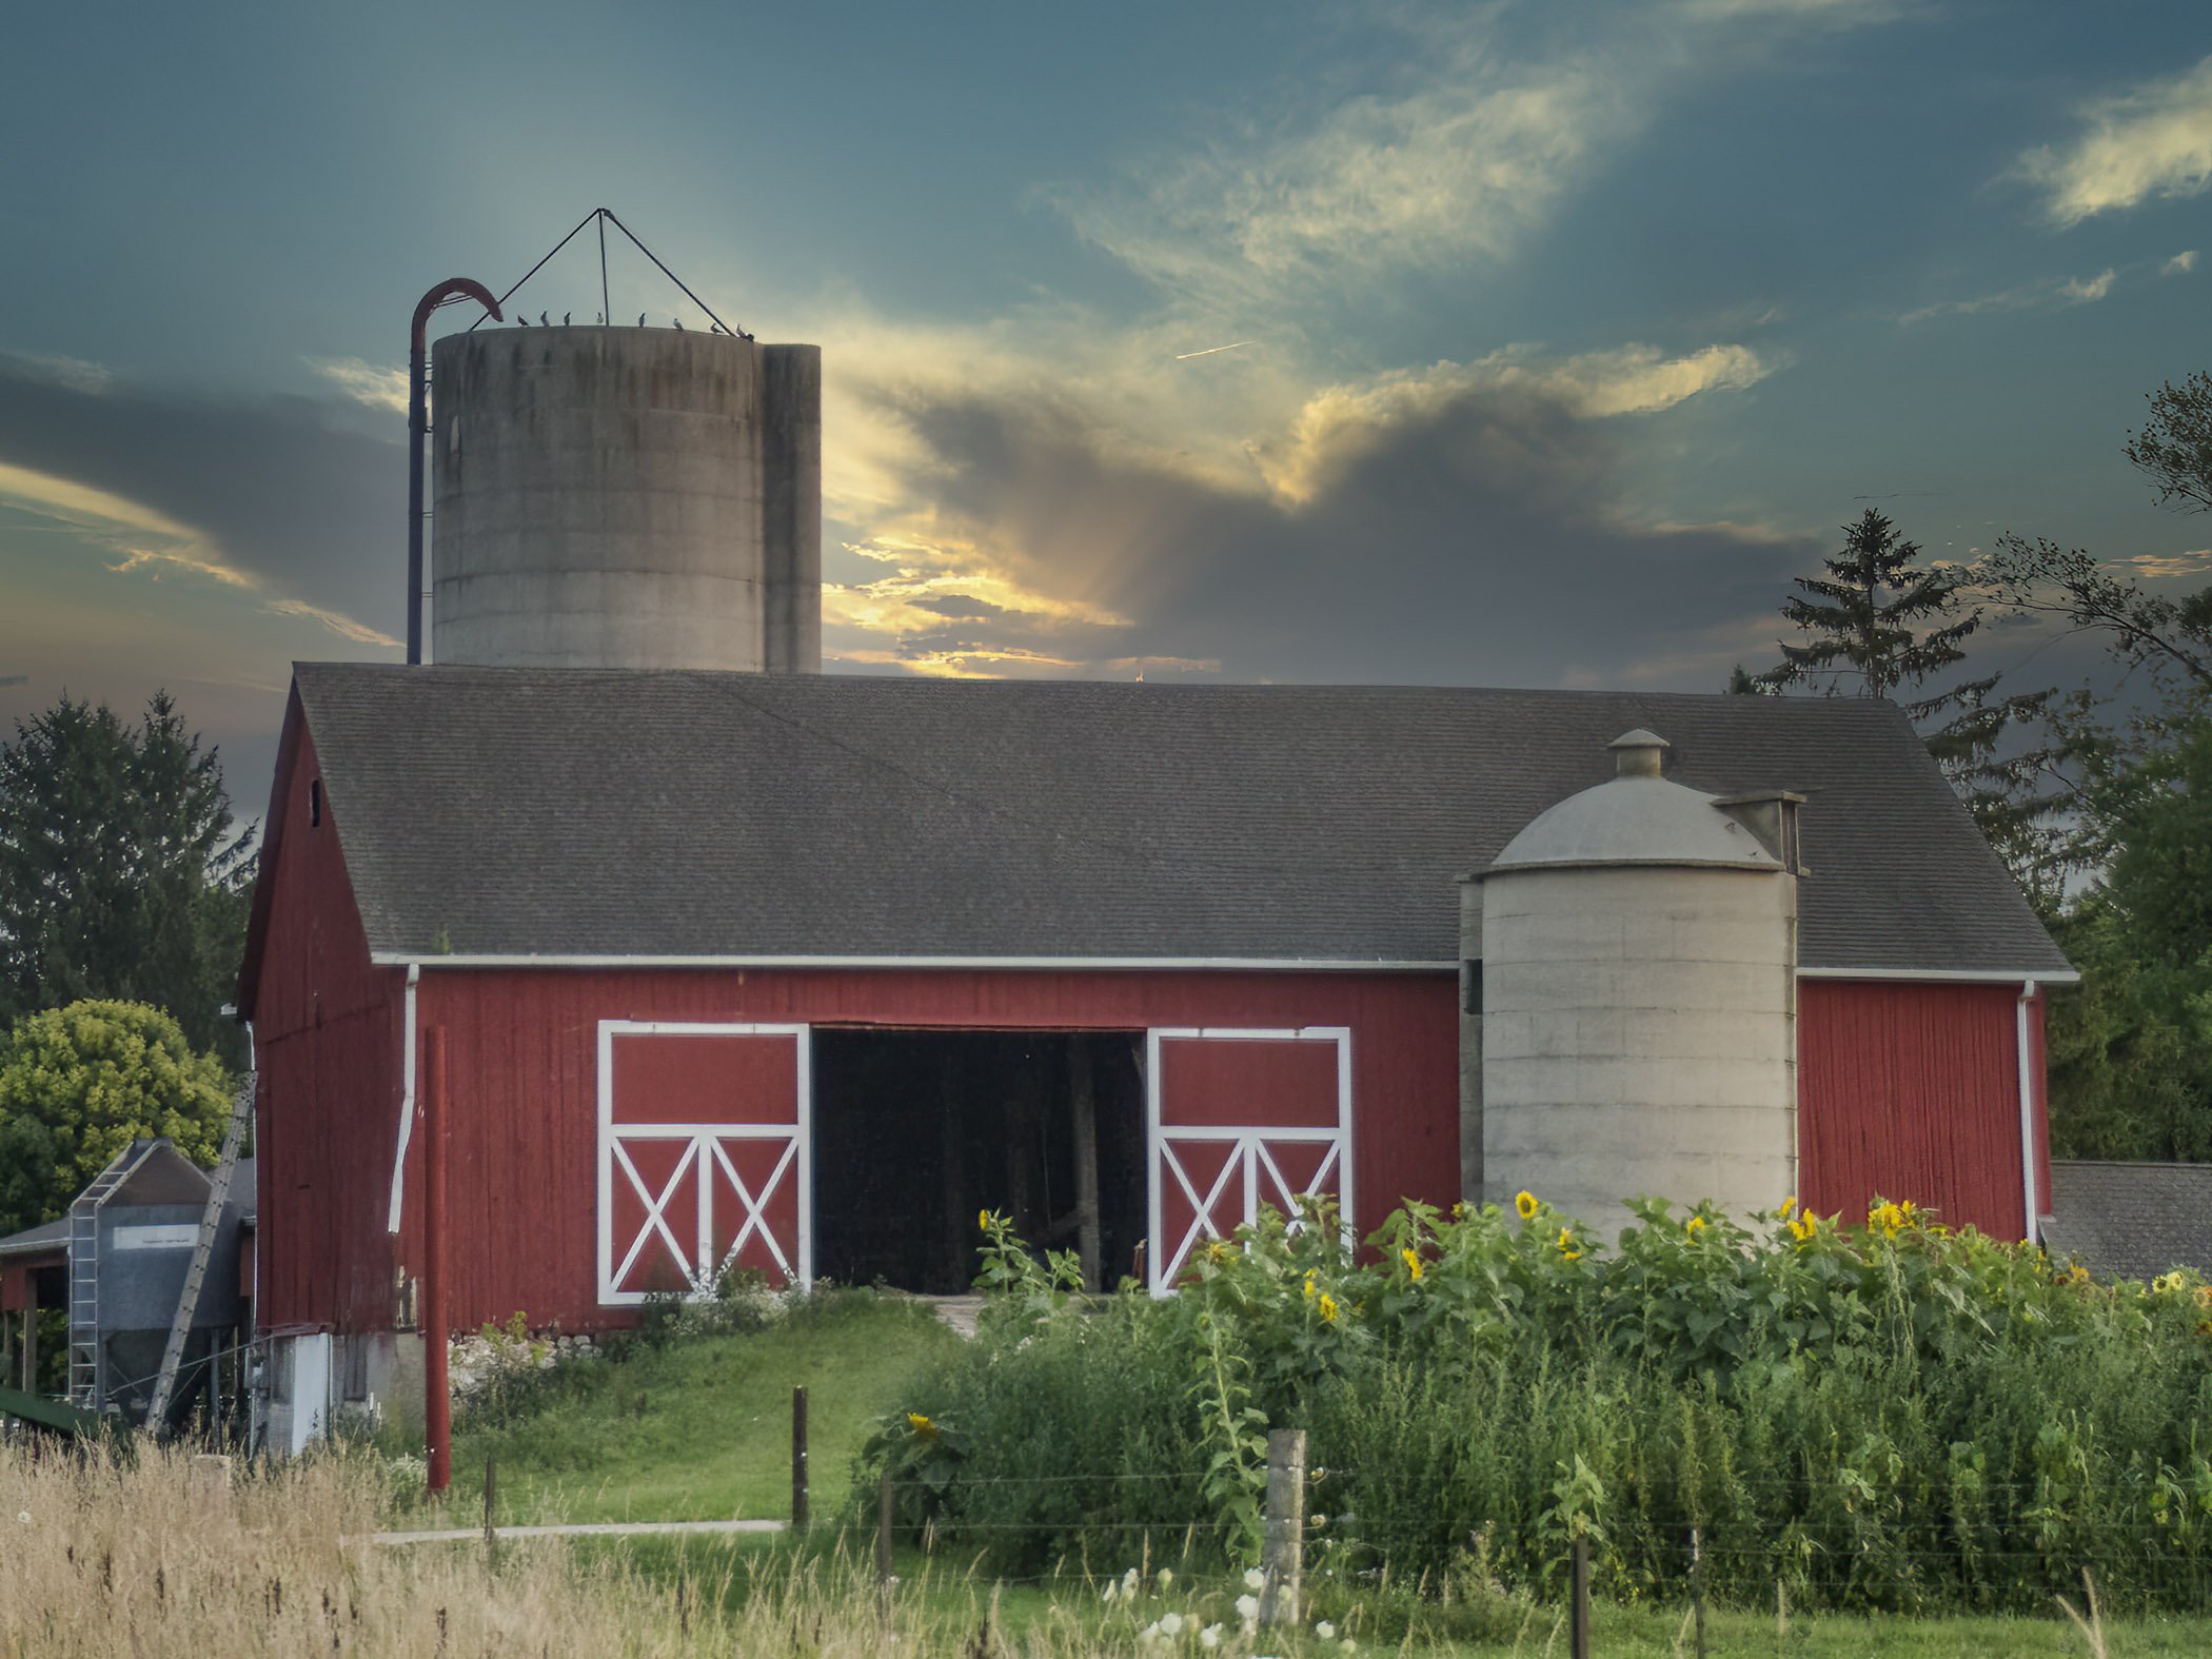
<path id="1" fill-rule="evenodd" d="M 1542 812 L 1482 883 L 1484 1197 L 1772 1210 L 1796 1172 L 1794 796 L 1659 776 L 1666 741 Z M 1767 834 L 1754 832 L 1761 823 Z"/>

